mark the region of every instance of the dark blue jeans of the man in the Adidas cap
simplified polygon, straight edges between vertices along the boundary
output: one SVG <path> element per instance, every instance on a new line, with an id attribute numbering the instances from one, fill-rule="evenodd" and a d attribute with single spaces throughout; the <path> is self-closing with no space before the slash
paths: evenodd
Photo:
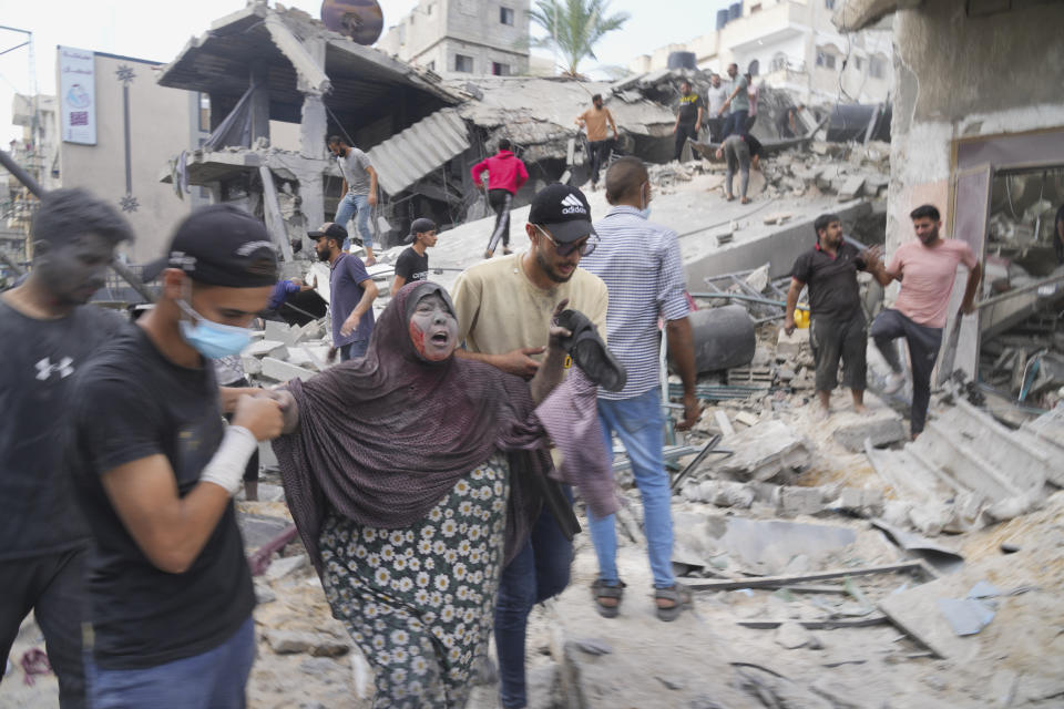
<path id="1" fill-rule="evenodd" d="M 563 486 L 572 501 L 572 492 Z M 495 606 L 495 651 L 499 655 L 499 695 L 507 709 L 528 703 L 524 681 L 524 639 L 529 613 L 538 603 L 569 585 L 573 543 L 565 538 L 546 507 L 513 561 L 502 569 Z"/>

